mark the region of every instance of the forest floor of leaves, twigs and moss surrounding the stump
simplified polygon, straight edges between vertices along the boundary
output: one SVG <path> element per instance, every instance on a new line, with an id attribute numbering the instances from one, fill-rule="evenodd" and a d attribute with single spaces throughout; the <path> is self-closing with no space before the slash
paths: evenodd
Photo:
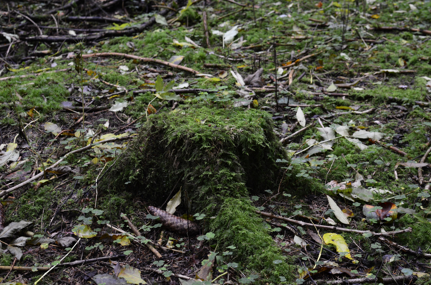
<path id="1" fill-rule="evenodd" d="M 69 2 L 0 3 L 3 282 L 429 284 L 430 1 Z M 290 276 L 97 189 L 148 117 L 195 104 L 270 112 L 280 167 L 309 180 L 250 197 Z"/>

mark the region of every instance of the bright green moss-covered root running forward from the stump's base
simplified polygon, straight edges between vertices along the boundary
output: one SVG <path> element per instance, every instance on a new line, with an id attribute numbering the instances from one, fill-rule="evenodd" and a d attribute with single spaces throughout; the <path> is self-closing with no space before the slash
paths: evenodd
<path id="1" fill-rule="evenodd" d="M 219 246 L 226 248 L 234 245 L 238 259 L 245 261 L 246 271 L 259 273 L 266 282 L 278 283 L 279 276 L 293 279 L 292 266 L 286 262 L 273 262 L 286 260 L 255 210 L 247 198 L 226 198 L 218 215 L 210 223 Z"/>

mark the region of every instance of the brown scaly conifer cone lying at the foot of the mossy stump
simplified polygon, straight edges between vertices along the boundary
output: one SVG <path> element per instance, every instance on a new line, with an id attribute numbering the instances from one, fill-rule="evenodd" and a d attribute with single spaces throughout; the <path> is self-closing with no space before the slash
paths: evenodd
<path id="1" fill-rule="evenodd" d="M 199 225 L 191 220 L 174 216 L 153 206 L 149 206 L 148 211 L 150 211 L 153 216 L 159 216 L 163 226 L 174 232 L 178 232 L 180 235 L 199 234 Z"/>

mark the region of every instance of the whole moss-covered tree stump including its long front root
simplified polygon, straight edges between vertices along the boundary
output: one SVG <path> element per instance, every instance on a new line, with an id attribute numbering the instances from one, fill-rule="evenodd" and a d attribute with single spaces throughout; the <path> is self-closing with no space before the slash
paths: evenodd
<path id="1" fill-rule="evenodd" d="M 235 262 L 279 282 L 289 266 L 273 263 L 284 257 L 250 200 L 278 188 L 278 158 L 287 159 L 268 113 L 194 106 L 151 115 L 117 161 L 111 186 L 156 207 L 181 186 L 192 201 L 191 214 L 206 214 L 203 234 L 215 233 L 217 251 L 234 245 Z"/>

